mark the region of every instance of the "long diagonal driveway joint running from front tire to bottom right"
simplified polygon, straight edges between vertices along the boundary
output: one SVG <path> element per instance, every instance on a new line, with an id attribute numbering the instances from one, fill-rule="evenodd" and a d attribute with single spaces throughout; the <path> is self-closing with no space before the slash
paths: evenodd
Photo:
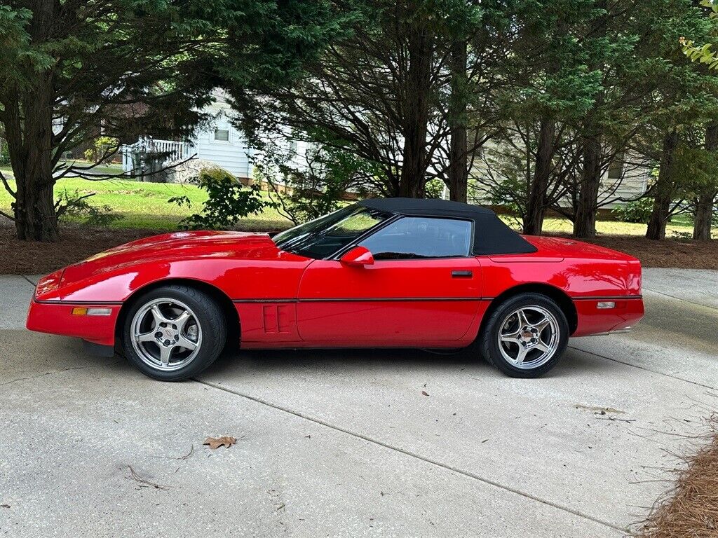
<path id="1" fill-rule="evenodd" d="M 195 377 L 193 377 L 192 380 L 195 381 L 195 382 L 197 382 L 197 383 L 204 384 L 204 385 L 206 385 L 206 386 L 208 386 L 208 387 L 212 387 L 213 389 L 221 390 L 221 391 L 223 391 L 223 392 L 228 392 L 228 393 L 230 393 L 230 394 L 233 394 L 233 395 L 236 395 L 236 396 L 239 396 L 239 397 L 246 398 L 247 400 L 251 400 L 251 401 L 256 402 L 256 403 L 258 403 L 258 404 L 266 405 L 267 407 L 272 407 L 273 409 L 276 409 L 276 410 L 279 410 L 279 411 L 282 411 L 282 412 L 289 413 L 290 415 L 294 415 L 294 416 L 299 417 L 299 418 L 302 418 L 302 419 L 304 419 L 304 420 L 309 420 L 309 421 L 312 422 L 312 423 L 325 426 L 325 428 L 330 428 L 330 429 L 335 430 L 335 431 L 337 431 L 337 432 L 345 433 L 346 435 L 351 435 L 352 437 L 355 437 L 355 438 L 358 438 L 358 439 L 361 439 L 361 440 L 365 440 L 365 441 L 367 441 L 368 443 L 373 443 L 374 445 L 378 445 L 378 446 L 381 446 L 381 447 L 383 447 L 383 448 L 388 448 L 388 450 L 393 450 L 393 451 L 395 451 L 395 452 L 404 454 L 404 456 L 409 456 L 410 458 L 415 458 L 415 459 L 418 459 L 418 460 L 420 460 L 420 461 L 424 461 L 424 463 L 429 463 L 430 465 L 437 466 L 437 467 L 439 467 L 439 468 L 442 468 L 442 469 L 444 469 L 444 470 L 446 470 L 446 471 L 450 471 L 450 472 L 452 472 L 452 473 L 456 473 L 456 474 L 458 474 L 458 475 L 460 475 L 460 476 L 464 476 L 465 478 L 472 478 L 472 479 L 474 479 L 474 480 L 477 480 L 477 481 L 480 481 L 480 482 L 482 482 L 482 483 L 485 483 L 485 484 L 487 484 L 488 486 L 493 486 L 493 487 L 498 488 L 498 489 L 503 489 L 504 491 L 508 491 L 508 492 L 510 492 L 510 493 L 513 493 L 513 494 L 522 496 L 522 497 L 524 497 L 524 498 L 526 498 L 526 499 L 530 499 L 531 501 L 536 501 L 536 502 L 541 503 L 541 504 L 544 504 L 544 505 L 546 505 L 546 506 L 551 506 L 551 508 L 564 511 L 564 512 L 567 512 L 567 513 L 569 513 L 569 514 L 573 514 L 574 516 L 578 516 L 578 517 L 580 517 L 580 518 L 582 518 L 582 519 L 587 519 L 588 521 L 591 521 L 591 522 L 594 522 L 594 523 L 603 525 L 604 527 L 609 527 L 610 529 L 614 529 L 614 530 L 616 530 L 616 531 L 618 531 L 618 532 L 623 532 L 623 533 L 628 533 L 628 532 L 630 532 L 629 529 L 628 529 L 628 527 L 620 527 L 620 525 L 616 525 L 616 524 L 613 524 L 613 523 L 611 523 L 611 522 L 607 522 L 607 521 L 605 521 L 605 520 L 603 520 L 603 519 L 597 518 L 597 517 L 595 517 L 595 516 L 591 516 L 591 515 L 589 515 L 589 514 L 584 514 L 583 512 L 578 511 L 578 510 L 574 510 L 574 509 L 572 509 L 572 508 L 569 508 L 568 506 L 562 506 L 561 504 L 556 504 L 556 503 L 554 503 L 554 502 L 552 502 L 552 501 L 548 501 L 548 500 L 546 500 L 546 499 L 541 499 L 541 497 L 538 497 L 538 496 L 536 496 L 536 495 L 530 494 L 530 493 L 528 493 L 528 492 L 526 492 L 526 491 L 521 491 L 520 489 L 516 489 L 516 488 L 513 488 L 513 487 L 511 487 L 511 486 L 507 486 L 507 485 L 505 485 L 505 484 L 503 484 L 503 483 L 500 483 L 500 482 L 497 482 L 497 481 L 493 481 L 493 480 L 491 480 L 490 478 L 485 478 L 485 477 L 483 477 L 483 476 L 478 476 L 478 475 L 476 475 L 476 474 L 474 474 L 474 473 L 470 473 L 470 472 L 468 472 L 468 471 L 464 471 L 464 470 L 462 470 L 462 469 L 460 469 L 460 468 L 449 466 L 449 465 L 447 465 L 446 463 L 441 463 L 440 461 L 434 460 L 434 459 L 432 459 L 432 458 L 427 458 L 426 456 L 421 456 L 420 454 L 416 454 L 416 453 L 410 452 L 409 450 L 406 450 L 406 449 L 404 449 L 404 448 L 401 448 L 401 447 L 398 447 L 398 446 L 394 446 L 394 445 L 390 445 L 390 444 L 385 443 L 385 442 L 383 442 L 383 441 L 381 441 L 381 440 L 378 440 L 378 439 L 375 439 L 375 438 L 371 438 L 371 437 L 369 437 L 368 435 L 364 435 L 364 434 L 362 434 L 362 433 L 357 433 L 357 432 L 354 432 L 354 431 L 352 431 L 352 430 L 348 430 L 348 429 L 346 429 L 346 428 L 342 428 L 342 427 L 340 427 L 340 426 L 337 426 L 337 425 L 334 425 L 334 424 L 331 424 L 331 423 L 327 423 L 327 422 L 325 422 L 325 420 L 322 420 L 322 419 L 320 419 L 320 418 L 312 417 L 312 416 L 310 416 L 310 415 L 305 415 L 305 414 L 302 413 L 302 412 L 294 411 L 294 410 L 292 410 L 292 409 L 289 409 L 288 407 L 284 407 L 284 406 L 278 405 L 278 404 L 276 404 L 276 403 L 274 403 L 274 402 L 269 402 L 268 400 L 263 400 L 262 398 L 258 398 L 258 397 L 255 397 L 255 396 L 246 395 L 246 394 L 244 394 L 243 392 L 239 392 L 238 390 L 232 390 L 232 389 L 229 389 L 228 387 L 223 387 L 221 384 L 218 384 L 218 383 L 213 383 L 213 382 L 209 382 L 209 381 L 202 381 L 201 379 L 197 379 L 197 378 L 195 378 Z"/>

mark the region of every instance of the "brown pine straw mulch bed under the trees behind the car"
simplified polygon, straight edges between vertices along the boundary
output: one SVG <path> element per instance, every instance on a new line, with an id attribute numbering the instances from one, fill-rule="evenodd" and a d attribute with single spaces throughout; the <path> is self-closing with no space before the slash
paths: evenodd
<path id="1" fill-rule="evenodd" d="M 122 243 L 148 237 L 156 230 L 120 230 L 65 225 L 57 243 L 19 241 L 9 222 L 0 223 L 0 275 L 37 275 L 84 260 Z M 635 256 L 644 267 L 718 270 L 718 240 L 686 242 L 649 241 L 638 236 L 612 235 L 593 240 Z"/>

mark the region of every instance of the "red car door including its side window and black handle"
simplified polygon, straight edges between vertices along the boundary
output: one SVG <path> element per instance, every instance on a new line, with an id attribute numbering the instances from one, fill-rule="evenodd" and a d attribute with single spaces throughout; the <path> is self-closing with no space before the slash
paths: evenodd
<path id="1" fill-rule="evenodd" d="M 449 345 L 462 338 L 481 296 L 473 223 L 401 217 L 361 240 L 373 265 L 315 260 L 297 294 L 304 341 L 323 346 Z"/>

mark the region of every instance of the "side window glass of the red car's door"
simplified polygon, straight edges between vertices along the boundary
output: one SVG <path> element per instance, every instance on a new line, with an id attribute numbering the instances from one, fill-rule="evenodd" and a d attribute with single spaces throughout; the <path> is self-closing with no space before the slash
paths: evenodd
<path id="1" fill-rule="evenodd" d="M 471 222 L 432 217 L 402 217 L 360 242 L 376 260 L 414 260 L 468 256 Z"/>

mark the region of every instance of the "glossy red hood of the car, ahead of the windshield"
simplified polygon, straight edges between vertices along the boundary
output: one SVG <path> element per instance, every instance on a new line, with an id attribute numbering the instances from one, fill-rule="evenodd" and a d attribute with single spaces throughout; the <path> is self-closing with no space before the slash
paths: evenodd
<path id="1" fill-rule="evenodd" d="M 174 232 L 119 245 L 70 265 L 65 268 L 61 284 L 138 263 L 202 258 L 276 260 L 287 255 L 264 233 Z"/>

